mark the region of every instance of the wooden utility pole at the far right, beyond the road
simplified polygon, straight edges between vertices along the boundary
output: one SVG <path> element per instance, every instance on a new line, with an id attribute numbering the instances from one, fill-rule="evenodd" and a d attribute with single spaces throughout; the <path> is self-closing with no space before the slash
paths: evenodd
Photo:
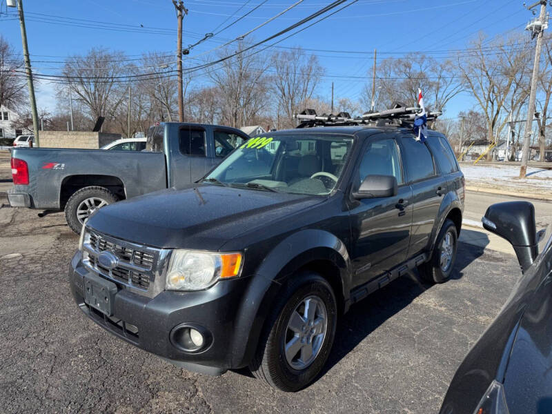
<path id="1" fill-rule="evenodd" d="M 527 172 L 527 161 L 529 161 L 529 144 L 531 143 L 531 132 L 533 130 L 533 117 L 535 114 L 535 98 L 537 95 L 537 82 L 539 75 L 539 63 L 540 63 L 540 50 L 542 48 L 542 36 L 544 30 L 548 27 L 548 18 L 546 16 L 546 3 L 547 0 L 540 0 L 537 3 L 529 6 L 528 9 L 538 6 L 540 4 L 540 14 L 538 20 L 531 21 L 526 30 L 533 31 L 533 37 L 537 35 L 537 44 L 535 46 L 535 61 L 533 63 L 533 77 L 531 78 L 531 93 L 529 95 L 529 106 L 527 108 L 527 119 L 525 123 L 524 137 L 523 137 L 523 152 L 522 152 L 522 165 L 520 168 L 520 178 L 524 178 Z"/>

